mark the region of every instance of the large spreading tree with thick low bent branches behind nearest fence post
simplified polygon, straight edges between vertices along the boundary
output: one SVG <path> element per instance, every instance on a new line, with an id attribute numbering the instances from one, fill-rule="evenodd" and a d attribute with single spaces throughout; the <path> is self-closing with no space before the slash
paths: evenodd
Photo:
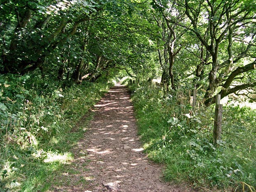
<path id="1" fill-rule="evenodd" d="M 223 98 L 238 90 L 256 86 L 252 78 L 245 81 L 256 64 L 253 29 L 256 8 L 253 1 L 181 0 L 174 3 L 180 7 L 176 10 L 184 12 L 187 19 L 180 21 L 171 17 L 168 20 L 190 31 L 191 36 L 201 42 L 201 64 L 197 65 L 197 76 L 203 65 L 211 64 L 205 104 L 213 103 L 216 94 Z M 232 85 L 241 78 L 244 79 L 243 84 Z"/>

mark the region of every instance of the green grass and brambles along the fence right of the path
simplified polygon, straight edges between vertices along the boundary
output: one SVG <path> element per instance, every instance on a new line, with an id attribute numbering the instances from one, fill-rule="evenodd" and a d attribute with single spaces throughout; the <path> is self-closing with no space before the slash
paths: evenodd
<path id="1" fill-rule="evenodd" d="M 132 85 L 130 91 L 146 152 L 166 164 L 166 180 L 213 191 L 243 191 L 240 182 L 256 187 L 256 111 L 225 106 L 216 147 L 213 107 L 192 114 L 190 105 L 177 104 L 175 92 L 164 97 L 154 85 Z"/>

